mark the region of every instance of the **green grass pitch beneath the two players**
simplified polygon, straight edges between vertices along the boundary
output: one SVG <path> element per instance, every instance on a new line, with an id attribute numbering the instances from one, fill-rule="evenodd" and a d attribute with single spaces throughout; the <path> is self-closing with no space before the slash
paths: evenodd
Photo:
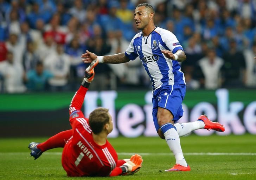
<path id="1" fill-rule="evenodd" d="M 52 149 L 33 160 L 27 145 L 31 141 L 46 138 L 6 138 L 0 139 L 0 180 L 73 180 L 110 179 L 70 178 L 61 165 L 62 148 Z M 119 153 L 119 159 L 128 158 L 126 153 L 142 154 L 143 166 L 132 176 L 118 176 L 119 180 L 255 180 L 256 179 L 256 136 L 196 136 L 181 137 L 186 161 L 190 172 L 164 172 L 175 162 L 166 142 L 160 138 L 115 138 L 109 139 Z M 248 155 L 194 155 L 191 153 L 253 153 Z M 157 154 L 159 153 L 159 154 Z M 190 154 L 188 154 L 190 153 Z"/>

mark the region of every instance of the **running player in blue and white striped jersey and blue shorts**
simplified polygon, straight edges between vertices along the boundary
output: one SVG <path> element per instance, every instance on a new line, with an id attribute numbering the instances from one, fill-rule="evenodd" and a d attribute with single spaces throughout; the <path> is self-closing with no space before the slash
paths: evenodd
<path id="1" fill-rule="evenodd" d="M 182 116 L 182 101 L 185 96 L 186 84 L 179 62 L 186 59 L 183 47 L 176 36 L 154 25 L 154 9 L 150 4 L 137 5 L 134 20 L 136 34 L 125 53 L 109 56 L 97 56 L 86 51 L 82 61 L 89 63 L 98 59 L 100 63 L 118 64 L 134 60 L 139 56 L 153 85 L 153 120 L 156 131 L 165 139 L 173 152 L 176 164 L 166 171 L 190 171 L 180 146 L 179 135 L 193 130 L 205 128 L 224 131 L 224 126 L 211 122 L 207 116 L 201 115 L 196 122 L 175 124 Z"/>

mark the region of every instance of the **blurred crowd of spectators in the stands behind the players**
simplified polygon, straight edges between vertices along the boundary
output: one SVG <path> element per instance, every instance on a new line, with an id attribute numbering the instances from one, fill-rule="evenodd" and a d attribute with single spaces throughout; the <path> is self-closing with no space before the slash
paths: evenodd
<path id="1" fill-rule="evenodd" d="M 77 89 L 81 55 L 124 52 L 143 2 L 183 46 L 188 89 L 256 87 L 256 0 L 0 0 L 0 92 Z M 95 71 L 90 89 L 151 87 L 139 59 Z"/>

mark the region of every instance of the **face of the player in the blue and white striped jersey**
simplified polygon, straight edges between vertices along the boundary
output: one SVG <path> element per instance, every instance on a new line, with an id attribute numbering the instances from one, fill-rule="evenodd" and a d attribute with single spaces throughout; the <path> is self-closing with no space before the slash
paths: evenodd
<path id="1" fill-rule="evenodd" d="M 140 6 L 135 9 L 134 20 L 136 28 L 143 30 L 149 23 L 150 12 L 147 11 L 145 6 Z"/>

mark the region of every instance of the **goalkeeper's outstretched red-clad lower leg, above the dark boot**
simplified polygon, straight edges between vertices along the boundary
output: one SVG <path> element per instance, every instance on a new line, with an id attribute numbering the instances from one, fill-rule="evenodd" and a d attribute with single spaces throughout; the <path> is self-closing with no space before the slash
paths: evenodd
<path id="1" fill-rule="evenodd" d="M 37 145 L 41 151 L 45 152 L 49 149 L 57 148 L 57 147 L 64 147 L 66 141 L 73 135 L 73 130 L 62 131 L 51 138 L 47 139 L 45 142 L 40 143 Z"/>

